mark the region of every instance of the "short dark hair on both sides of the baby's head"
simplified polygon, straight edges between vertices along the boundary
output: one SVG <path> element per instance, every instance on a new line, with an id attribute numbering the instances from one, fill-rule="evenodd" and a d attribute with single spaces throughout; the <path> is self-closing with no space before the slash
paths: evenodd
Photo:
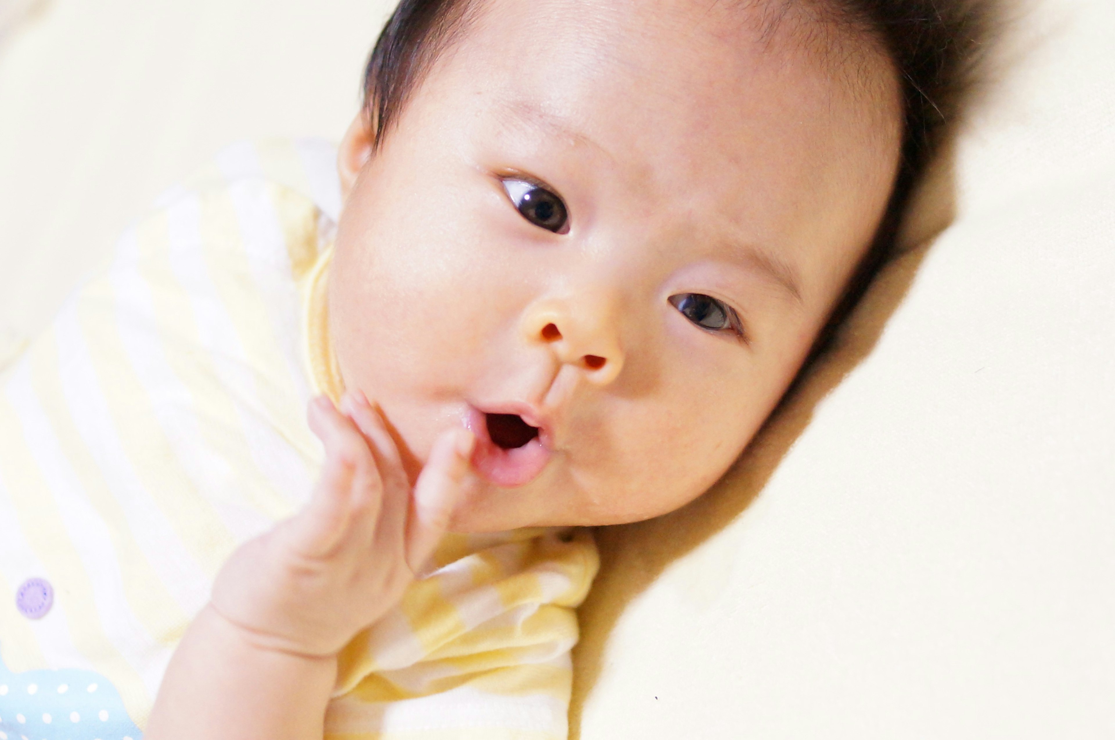
<path id="1" fill-rule="evenodd" d="M 390 132 L 408 98 L 463 33 L 484 0 L 401 0 L 376 41 L 363 78 L 374 146 Z M 900 171 L 876 237 L 853 274 L 813 360 L 855 308 L 894 249 L 902 214 L 927 163 L 954 125 L 975 81 L 995 0 L 736 0 L 766 2 L 780 18 L 804 7 L 817 22 L 867 35 L 890 56 L 902 86 L 904 133 Z M 806 362 L 808 364 L 808 362 Z"/>

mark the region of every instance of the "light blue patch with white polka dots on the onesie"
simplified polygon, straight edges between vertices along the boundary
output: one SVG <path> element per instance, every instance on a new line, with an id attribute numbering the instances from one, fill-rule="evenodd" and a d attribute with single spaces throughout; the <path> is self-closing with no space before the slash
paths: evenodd
<path id="1" fill-rule="evenodd" d="M 120 695 L 99 673 L 12 673 L 0 661 L 0 740 L 139 739 Z"/>

